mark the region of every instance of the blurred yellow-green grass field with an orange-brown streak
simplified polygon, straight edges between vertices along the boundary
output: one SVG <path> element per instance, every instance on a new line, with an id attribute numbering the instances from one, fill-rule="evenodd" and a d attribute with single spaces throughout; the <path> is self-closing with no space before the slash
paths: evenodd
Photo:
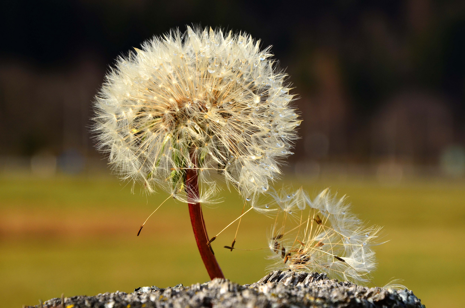
<path id="1" fill-rule="evenodd" d="M 385 226 L 390 241 L 376 248 L 375 283 L 403 279 L 427 308 L 462 307 L 465 183 L 293 180 L 294 187 L 300 185 L 313 196 L 325 187 L 347 194 L 354 213 Z M 187 206 L 168 201 L 136 237 L 166 194 L 147 197 L 130 190 L 109 177 L 1 179 L 0 307 L 36 305 L 61 293 L 132 292 L 141 286 L 207 281 Z M 242 210 L 235 192 L 222 196 L 223 203 L 204 210 L 211 235 Z M 236 247 L 266 247 L 272 222 L 247 214 Z M 266 274 L 267 251 L 222 248 L 231 244 L 234 232 L 226 230 L 213 242 L 219 264 L 232 281 L 257 281 Z"/>

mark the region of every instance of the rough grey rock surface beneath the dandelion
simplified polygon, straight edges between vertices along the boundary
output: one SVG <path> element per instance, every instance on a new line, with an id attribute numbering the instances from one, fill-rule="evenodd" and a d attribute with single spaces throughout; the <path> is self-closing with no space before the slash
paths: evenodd
<path id="1" fill-rule="evenodd" d="M 43 303 L 43 308 L 61 308 L 60 298 Z M 360 287 L 352 282 L 330 280 L 326 274 L 295 274 L 274 271 L 251 285 L 224 279 L 172 288 L 142 287 L 133 293 L 104 293 L 64 299 L 64 308 L 279 308 L 279 307 L 402 307 L 421 308 L 410 290 Z M 35 306 L 40 307 L 40 306 Z"/>

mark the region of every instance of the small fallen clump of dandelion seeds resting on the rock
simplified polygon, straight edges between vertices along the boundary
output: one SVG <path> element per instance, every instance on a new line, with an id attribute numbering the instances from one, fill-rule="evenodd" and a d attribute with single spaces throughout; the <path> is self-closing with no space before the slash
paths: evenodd
<path id="1" fill-rule="evenodd" d="M 373 245 L 381 228 L 363 224 L 349 213 L 345 197 L 329 189 L 313 201 L 300 188 L 274 194 L 280 213 L 268 236 L 272 268 L 325 272 L 345 281 L 370 281 L 376 268 Z M 303 206 L 305 204 L 305 206 Z"/>

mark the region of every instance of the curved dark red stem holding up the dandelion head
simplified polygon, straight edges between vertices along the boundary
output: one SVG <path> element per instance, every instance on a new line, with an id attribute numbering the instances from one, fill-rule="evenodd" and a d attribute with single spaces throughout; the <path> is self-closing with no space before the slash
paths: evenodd
<path id="1" fill-rule="evenodd" d="M 186 192 L 187 200 L 196 200 L 199 196 L 199 184 L 197 178 L 197 171 L 194 169 L 187 169 L 186 173 Z M 206 233 L 205 221 L 203 219 L 202 208 L 200 203 L 188 203 L 189 215 L 191 216 L 192 229 L 194 231 L 195 241 L 199 248 L 200 256 L 210 279 L 225 278 L 221 268 L 216 261 L 214 254 L 207 245 L 208 234 Z"/>

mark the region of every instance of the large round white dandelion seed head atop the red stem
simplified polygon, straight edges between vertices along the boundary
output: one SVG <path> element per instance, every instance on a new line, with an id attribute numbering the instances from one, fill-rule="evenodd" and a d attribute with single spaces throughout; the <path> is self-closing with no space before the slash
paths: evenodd
<path id="1" fill-rule="evenodd" d="M 120 57 L 96 98 L 99 149 L 122 178 L 182 198 L 186 169 L 268 190 L 296 139 L 286 74 L 249 34 L 172 31 Z"/>

